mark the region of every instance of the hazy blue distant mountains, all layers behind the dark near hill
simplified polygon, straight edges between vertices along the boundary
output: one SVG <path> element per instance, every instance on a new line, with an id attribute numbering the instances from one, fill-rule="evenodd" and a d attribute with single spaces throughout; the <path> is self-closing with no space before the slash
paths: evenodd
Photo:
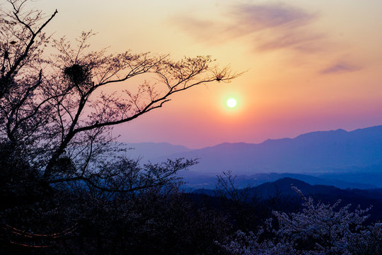
<path id="1" fill-rule="evenodd" d="M 180 173 L 192 188 L 214 186 L 216 174 L 223 171 L 237 174 L 241 183 L 256 185 L 291 177 L 340 188 L 382 187 L 382 125 L 351 132 L 309 132 L 260 144 L 225 142 L 202 149 L 168 143 L 125 146 L 135 148 L 126 152 L 128 157 L 144 157 L 143 162 L 198 159 L 199 164 Z"/>

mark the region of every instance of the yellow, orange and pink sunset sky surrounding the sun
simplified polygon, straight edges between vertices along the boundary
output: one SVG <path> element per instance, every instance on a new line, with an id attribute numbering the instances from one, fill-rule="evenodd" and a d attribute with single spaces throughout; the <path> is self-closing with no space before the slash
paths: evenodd
<path id="1" fill-rule="evenodd" d="M 190 148 L 257 143 L 382 125 L 381 0 L 35 0 L 59 38 L 98 34 L 94 49 L 212 55 L 246 71 L 197 86 L 117 126 L 122 142 Z M 236 108 L 226 100 L 236 98 Z"/>

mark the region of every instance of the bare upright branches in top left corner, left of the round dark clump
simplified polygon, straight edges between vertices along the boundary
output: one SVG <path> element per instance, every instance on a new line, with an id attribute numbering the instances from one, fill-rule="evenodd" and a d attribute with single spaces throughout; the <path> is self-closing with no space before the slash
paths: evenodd
<path id="1" fill-rule="evenodd" d="M 39 64 L 44 50 L 42 46 L 46 46 L 50 39 L 42 33 L 42 30 L 57 14 L 56 10 L 52 16 L 45 18 L 42 11 L 24 12 L 23 5 L 26 0 L 7 0 L 7 2 L 11 10 L 0 13 L 0 49 L 3 58 L 0 71 L 0 98 L 14 93 L 13 90 L 21 89 L 18 86 L 21 77 L 40 78 L 39 72 L 36 75 L 33 70 L 34 74 L 31 74 L 30 69 L 37 67 L 36 64 Z M 21 98 L 28 98 L 28 94 L 32 93 L 39 83 L 40 79 L 37 79 L 35 84 L 28 82 L 26 91 L 18 91 L 24 93 Z"/>

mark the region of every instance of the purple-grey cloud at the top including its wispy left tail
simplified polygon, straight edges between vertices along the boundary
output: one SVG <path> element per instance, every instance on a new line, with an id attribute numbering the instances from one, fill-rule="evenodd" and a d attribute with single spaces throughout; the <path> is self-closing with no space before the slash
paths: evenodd
<path id="1" fill-rule="evenodd" d="M 287 4 L 236 4 L 219 21 L 178 16 L 173 23 L 199 42 L 219 44 L 248 36 L 259 51 L 312 52 L 321 50 L 325 39 L 310 26 L 316 18 L 316 13 Z"/>

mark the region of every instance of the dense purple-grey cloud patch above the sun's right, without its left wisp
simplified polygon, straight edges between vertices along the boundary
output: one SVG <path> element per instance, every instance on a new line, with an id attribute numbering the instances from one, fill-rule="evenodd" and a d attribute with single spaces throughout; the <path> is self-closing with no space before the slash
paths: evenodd
<path id="1" fill-rule="evenodd" d="M 242 30 L 254 35 L 257 50 L 316 52 L 325 35 L 313 32 L 318 15 L 287 4 L 240 5 L 231 11 Z"/>

